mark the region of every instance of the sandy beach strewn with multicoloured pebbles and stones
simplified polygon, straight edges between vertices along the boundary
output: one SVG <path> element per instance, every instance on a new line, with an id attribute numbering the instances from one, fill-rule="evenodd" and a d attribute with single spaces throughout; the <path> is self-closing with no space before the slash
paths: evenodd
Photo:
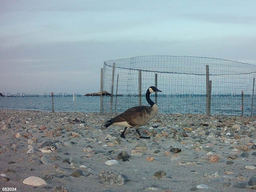
<path id="1" fill-rule="evenodd" d="M 247 192 L 256 189 L 256 120 L 157 114 L 139 128 L 99 113 L 0 111 L 0 186 L 22 192 Z M 56 146 L 51 154 L 39 151 Z M 42 156 L 41 156 L 42 155 Z M 7 191 L 7 190 L 6 190 Z"/>

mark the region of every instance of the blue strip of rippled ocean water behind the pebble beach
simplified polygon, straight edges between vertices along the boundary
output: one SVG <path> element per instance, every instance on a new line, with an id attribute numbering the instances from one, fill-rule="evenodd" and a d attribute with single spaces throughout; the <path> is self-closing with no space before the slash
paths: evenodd
<path id="1" fill-rule="evenodd" d="M 154 95 L 151 96 L 151 99 L 155 101 Z M 76 112 L 100 112 L 99 96 L 78 95 L 76 102 L 74 102 L 72 95 L 56 95 L 53 97 L 53 101 L 56 112 L 74 112 L 75 104 Z M 111 97 L 105 96 L 103 101 L 103 112 L 109 113 Z M 251 102 L 251 96 L 244 97 L 243 115 L 251 115 Z M 256 96 L 254 96 L 253 115 L 256 114 L 255 104 Z M 148 105 L 144 96 L 142 97 L 142 105 Z M 194 95 L 165 95 L 165 97 L 157 98 L 157 105 L 159 113 L 206 114 L 206 97 L 204 95 L 197 97 Z M 133 106 L 138 106 L 138 97 L 113 97 L 113 112 L 121 113 Z M 211 98 L 211 114 L 241 115 L 241 106 L 240 97 L 213 95 Z M 0 109 L 52 111 L 52 97 L 49 95 L 0 97 Z"/>

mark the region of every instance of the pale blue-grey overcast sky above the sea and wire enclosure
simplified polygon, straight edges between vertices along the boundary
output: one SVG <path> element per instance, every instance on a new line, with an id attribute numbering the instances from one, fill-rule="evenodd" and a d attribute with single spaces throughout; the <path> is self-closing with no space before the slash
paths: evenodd
<path id="1" fill-rule="evenodd" d="M 256 64 L 255 0 L 0 0 L 0 92 L 100 91 L 106 60 Z"/>

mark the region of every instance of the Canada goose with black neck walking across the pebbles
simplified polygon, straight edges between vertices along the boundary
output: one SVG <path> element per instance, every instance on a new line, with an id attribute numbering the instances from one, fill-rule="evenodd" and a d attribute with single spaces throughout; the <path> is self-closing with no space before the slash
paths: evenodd
<path id="1" fill-rule="evenodd" d="M 124 131 L 121 133 L 121 137 L 125 138 L 124 133 L 128 127 L 135 127 L 136 132 L 139 134 L 140 138 L 150 139 L 150 137 L 144 137 L 140 134 L 138 127 L 146 125 L 151 119 L 153 119 L 158 113 L 157 105 L 150 99 L 150 93 L 162 92 L 156 87 L 151 86 L 146 92 L 146 100 L 150 104 L 149 106 L 136 106 L 127 109 L 125 112 L 108 120 L 104 126 L 107 128 L 110 125 L 122 125 L 125 126 Z"/>

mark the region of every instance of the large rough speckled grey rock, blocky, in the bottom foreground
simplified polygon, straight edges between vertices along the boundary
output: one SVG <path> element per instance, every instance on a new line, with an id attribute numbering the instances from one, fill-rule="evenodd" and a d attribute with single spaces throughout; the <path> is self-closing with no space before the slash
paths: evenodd
<path id="1" fill-rule="evenodd" d="M 110 170 L 101 170 L 99 176 L 103 184 L 124 185 L 128 181 L 126 175 Z"/>

